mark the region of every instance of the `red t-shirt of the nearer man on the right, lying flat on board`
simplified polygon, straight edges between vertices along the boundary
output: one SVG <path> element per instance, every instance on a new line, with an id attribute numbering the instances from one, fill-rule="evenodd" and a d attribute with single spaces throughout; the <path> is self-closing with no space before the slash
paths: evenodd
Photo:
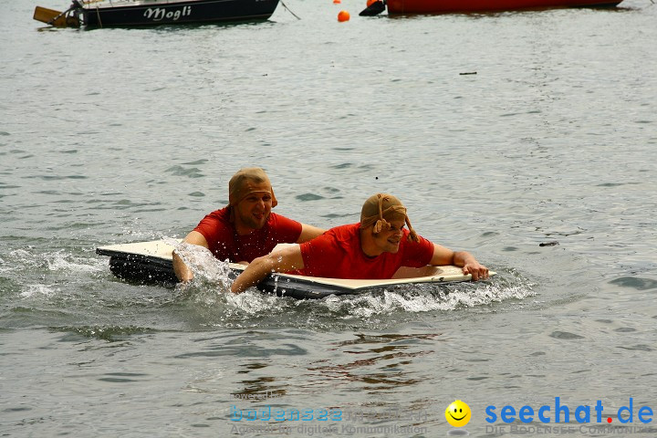
<path id="1" fill-rule="evenodd" d="M 298 274 L 328 278 L 387 279 L 401 266 L 429 265 L 433 257 L 433 244 L 422 237 L 419 242 L 409 242 L 408 235 L 409 231 L 404 229 L 397 253 L 368 257 L 360 248 L 360 224 L 331 228 L 323 235 L 300 245 L 305 267 Z"/>

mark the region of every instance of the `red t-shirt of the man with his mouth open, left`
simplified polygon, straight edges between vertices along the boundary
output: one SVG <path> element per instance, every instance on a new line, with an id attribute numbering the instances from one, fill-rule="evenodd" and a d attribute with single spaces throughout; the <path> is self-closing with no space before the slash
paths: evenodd
<path id="1" fill-rule="evenodd" d="M 224 207 L 203 217 L 194 228 L 205 237 L 219 260 L 251 263 L 254 258 L 269 254 L 276 244 L 296 243 L 301 235 L 301 224 L 276 213 L 269 214 L 265 226 L 248 235 L 237 235 L 229 219 L 228 207 Z"/>

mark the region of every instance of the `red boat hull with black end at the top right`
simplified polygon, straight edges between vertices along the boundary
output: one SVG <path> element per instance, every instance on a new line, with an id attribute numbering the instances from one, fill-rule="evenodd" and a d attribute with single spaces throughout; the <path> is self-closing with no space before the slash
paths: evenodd
<path id="1" fill-rule="evenodd" d="M 612 8 L 622 0 L 378 0 L 360 16 L 376 16 L 388 9 L 388 15 L 454 14 L 548 9 L 561 7 Z"/>

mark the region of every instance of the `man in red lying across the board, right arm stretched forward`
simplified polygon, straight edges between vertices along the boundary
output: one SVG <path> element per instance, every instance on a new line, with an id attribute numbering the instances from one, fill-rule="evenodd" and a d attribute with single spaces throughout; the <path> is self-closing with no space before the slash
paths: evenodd
<path id="1" fill-rule="evenodd" d="M 363 204 L 359 224 L 331 228 L 309 242 L 256 258 L 235 278 L 231 290 L 244 292 L 270 272 L 384 279 L 391 278 L 401 266 L 427 265 L 461 266 L 473 280 L 488 277 L 488 269 L 470 253 L 454 252 L 417 235 L 401 201 L 391 194 L 377 193 Z"/>

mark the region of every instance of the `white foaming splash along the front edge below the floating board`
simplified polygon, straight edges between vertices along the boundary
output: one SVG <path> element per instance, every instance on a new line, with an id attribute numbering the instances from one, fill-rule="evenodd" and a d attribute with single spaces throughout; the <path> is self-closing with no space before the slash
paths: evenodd
<path id="1" fill-rule="evenodd" d="M 373 290 L 360 295 L 297 300 L 249 289 L 243 294 L 209 294 L 196 289 L 194 301 L 203 304 L 211 325 L 230 327 L 312 327 L 336 329 L 378 327 L 412 320 L 422 313 L 443 313 L 465 308 L 495 312 L 497 304 L 524 307 L 536 295 L 526 279 L 503 273 L 490 282 L 450 285 L 410 285 Z M 506 304 L 504 304 L 506 303 Z"/>

